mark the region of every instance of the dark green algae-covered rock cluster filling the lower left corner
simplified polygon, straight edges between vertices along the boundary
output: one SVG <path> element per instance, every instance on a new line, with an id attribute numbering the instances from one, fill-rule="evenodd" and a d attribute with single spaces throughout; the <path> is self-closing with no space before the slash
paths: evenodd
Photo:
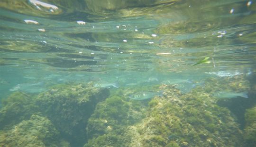
<path id="1" fill-rule="evenodd" d="M 87 142 L 89 117 L 96 104 L 109 94 L 108 89 L 95 88 L 92 83 L 55 85 L 33 97 L 14 92 L 3 100 L 0 109 L 0 144 L 7 147 L 82 146 Z M 17 129 L 20 133 L 16 133 Z M 30 145 L 29 139 L 35 142 L 31 141 Z M 59 145 L 61 142 L 65 145 Z"/>

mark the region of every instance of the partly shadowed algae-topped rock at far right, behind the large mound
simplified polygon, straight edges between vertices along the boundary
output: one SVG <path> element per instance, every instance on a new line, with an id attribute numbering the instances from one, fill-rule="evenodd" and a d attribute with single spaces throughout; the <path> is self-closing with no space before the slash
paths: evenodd
<path id="1" fill-rule="evenodd" d="M 219 73 L 219 74 L 230 74 L 230 73 Z M 220 78 L 208 78 L 205 82 L 195 88 L 197 91 L 203 91 L 208 93 L 212 97 L 216 97 L 217 104 L 219 106 L 227 107 L 232 114 L 235 114 L 237 122 L 240 123 L 240 128 L 245 125 L 244 114 L 248 106 L 255 103 L 253 100 L 253 91 L 247 76 L 241 74 L 236 76 L 226 76 Z M 221 93 L 233 93 L 239 94 L 243 93 L 248 98 L 244 97 L 229 97 L 229 98 L 219 98 L 218 95 Z M 250 94 L 252 93 L 252 94 Z M 229 95 L 229 94 L 227 94 Z M 221 95 L 220 95 L 221 96 Z"/>

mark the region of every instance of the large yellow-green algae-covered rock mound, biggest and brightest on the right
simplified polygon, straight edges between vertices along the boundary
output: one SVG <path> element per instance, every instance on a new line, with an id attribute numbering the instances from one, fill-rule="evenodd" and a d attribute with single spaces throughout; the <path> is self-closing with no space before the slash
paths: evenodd
<path id="1" fill-rule="evenodd" d="M 164 97 L 149 102 L 142 122 L 130 126 L 129 147 L 240 147 L 242 133 L 227 108 L 207 93 L 181 95 L 166 87 Z"/>

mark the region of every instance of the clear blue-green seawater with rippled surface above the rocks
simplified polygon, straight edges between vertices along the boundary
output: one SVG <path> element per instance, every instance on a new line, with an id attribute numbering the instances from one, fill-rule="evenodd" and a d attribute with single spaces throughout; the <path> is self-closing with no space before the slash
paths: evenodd
<path id="1" fill-rule="evenodd" d="M 248 82 L 245 90 L 222 86 L 248 98 L 238 97 L 234 106 L 228 98 L 223 107 L 243 131 L 245 112 L 256 104 L 255 75 L 255 0 L 0 1 L 0 99 L 79 83 L 107 83 L 110 93 L 175 85 L 186 94 L 207 79 L 239 85 L 237 78 Z M 169 136 L 179 144 L 181 137 Z"/>

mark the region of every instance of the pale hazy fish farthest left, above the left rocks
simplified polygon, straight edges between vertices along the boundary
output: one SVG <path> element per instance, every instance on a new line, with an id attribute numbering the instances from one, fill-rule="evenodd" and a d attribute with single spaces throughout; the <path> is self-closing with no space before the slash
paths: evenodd
<path id="1" fill-rule="evenodd" d="M 37 83 L 21 83 L 18 84 L 11 89 L 10 91 L 24 91 L 27 93 L 39 93 L 42 91 L 46 91 L 44 87 L 44 82 L 37 82 Z"/>

